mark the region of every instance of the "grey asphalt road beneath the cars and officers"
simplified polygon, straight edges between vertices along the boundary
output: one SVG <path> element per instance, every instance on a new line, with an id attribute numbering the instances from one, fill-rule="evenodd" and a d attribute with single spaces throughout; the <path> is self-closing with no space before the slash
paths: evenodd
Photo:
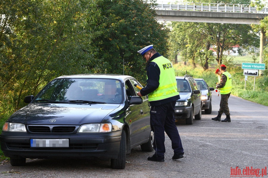
<path id="1" fill-rule="evenodd" d="M 219 101 L 220 96 L 213 93 L 212 114 L 202 113 L 193 125 L 177 125 L 185 152 L 180 160 L 171 159 L 173 150 L 166 136 L 165 162 L 161 163 L 148 161 L 153 152 L 141 152 L 139 146 L 127 155 L 124 170 L 111 169 L 106 160 L 29 159 L 26 166 L 18 167 L 2 162 L 0 177 L 268 178 L 268 107 L 230 96 L 231 122 L 223 123 L 211 120 L 218 113 Z"/>

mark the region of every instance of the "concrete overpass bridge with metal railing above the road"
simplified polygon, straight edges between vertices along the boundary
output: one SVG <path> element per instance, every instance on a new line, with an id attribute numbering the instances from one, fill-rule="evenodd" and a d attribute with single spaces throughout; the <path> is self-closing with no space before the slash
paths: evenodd
<path id="1" fill-rule="evenodd" d="M 260 24 L 260 20 L 268 16 L 268 7 L 257 9 L 245 4 L 165 2 L 154 8 L 160 21 Z M 265 42 L 265 33 L 261 29 L 260 63 Z"/>

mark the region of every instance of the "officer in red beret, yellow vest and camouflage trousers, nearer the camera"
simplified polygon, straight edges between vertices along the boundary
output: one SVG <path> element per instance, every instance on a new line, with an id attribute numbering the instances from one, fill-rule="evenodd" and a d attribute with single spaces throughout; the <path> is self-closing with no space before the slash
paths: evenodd
<path id="1" fill-rule="evenodd" d="M 216 85 L 216 88 L 220 88 L 220 109 L 218 111 L 218 115 L 212 118 L 212 120 L 221 121 L 222 113 L 225 113 L 226 118 L 222 120 L 222 122 L 231 122 L 230 111 L 228 107 L 228 98 L 231 95 L 232 76 L 228 71 L 226 71 L 226 66 L 224 64 L 220 65 L 220 71 L 222 75 L 219 83 Z"/>

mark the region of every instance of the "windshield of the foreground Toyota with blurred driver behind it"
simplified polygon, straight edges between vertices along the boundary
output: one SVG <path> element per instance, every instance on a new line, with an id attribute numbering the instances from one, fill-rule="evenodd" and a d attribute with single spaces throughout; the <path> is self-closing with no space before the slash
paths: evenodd
<path id="1" fill-rule="evenodd" d="M 33 102 L 119 104 L 122 103 L 122 85 L 114 79 L 56 79 L 46 85 Z"/>

